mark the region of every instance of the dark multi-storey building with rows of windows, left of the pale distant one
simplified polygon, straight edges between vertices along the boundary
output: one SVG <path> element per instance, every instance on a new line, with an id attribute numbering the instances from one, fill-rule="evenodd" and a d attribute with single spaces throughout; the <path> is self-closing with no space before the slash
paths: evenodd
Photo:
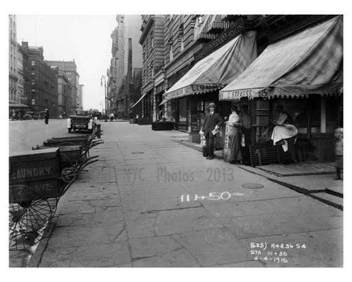
<path id="1" fill-rule="evenodd" d="M 27 105 L 36 112 L 48 109 L 50 117 L 58 116 L 57 69 L 52 69 L 44 61 L 43 47 L 28 46 L 22 42 L 23 52 L 28 56 L 24 72 Z"/>

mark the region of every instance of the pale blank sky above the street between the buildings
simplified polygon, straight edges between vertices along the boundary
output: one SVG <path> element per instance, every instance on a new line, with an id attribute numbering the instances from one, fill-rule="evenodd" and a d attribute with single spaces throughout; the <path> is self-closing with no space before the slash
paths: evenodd
<path id="1" fill-rule="evenodd" d="M 17 42 L 43 46 L 47 61 L 74 61 L 83 87 L 83 109 L 104 107 L 102 74 L 111 59 L 111 32 L 115 15 L 17 14 Z"/>

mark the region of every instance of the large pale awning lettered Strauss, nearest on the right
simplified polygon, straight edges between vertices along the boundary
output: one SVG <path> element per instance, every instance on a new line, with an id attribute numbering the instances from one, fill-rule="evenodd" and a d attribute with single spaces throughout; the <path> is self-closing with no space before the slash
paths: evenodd
<path id="1" fill-rule="evenodd" d="M 269 45 L 219 100 L 297 97 L 343 91 L 342 17 Z"/>

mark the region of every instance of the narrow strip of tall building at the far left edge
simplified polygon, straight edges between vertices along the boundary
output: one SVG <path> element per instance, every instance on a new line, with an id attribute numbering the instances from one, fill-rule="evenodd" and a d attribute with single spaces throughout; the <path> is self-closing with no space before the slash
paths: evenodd
<path id="1" fill-rule="evenodd" d="M 8 16 L 9 19 L 9 27 L 8 27 L 8 34 L 9 34 L 9 70 L 8 70 L 8 78 L 9 78 L 9 85 L 8 85 L 8 94 L 10 102 L 20 102 L 19 95 L 17 93 L 17 27 L 16 27 L 16 15 L 10 14 Z"/>

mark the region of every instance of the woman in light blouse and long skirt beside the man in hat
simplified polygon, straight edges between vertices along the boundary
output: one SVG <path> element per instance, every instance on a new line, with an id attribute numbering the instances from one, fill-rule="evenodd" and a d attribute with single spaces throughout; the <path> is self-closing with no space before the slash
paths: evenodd
<path id="1" fill-rule="evenodd" d="M 236 162 L 242 162 L 241 153 L 241 126 L 242 122 L 237 114 L 237 107 L 231 107 L 232 113 L 228 117 L 228 141 L 230 149 L 230 164 L 235 164 Z"/>

